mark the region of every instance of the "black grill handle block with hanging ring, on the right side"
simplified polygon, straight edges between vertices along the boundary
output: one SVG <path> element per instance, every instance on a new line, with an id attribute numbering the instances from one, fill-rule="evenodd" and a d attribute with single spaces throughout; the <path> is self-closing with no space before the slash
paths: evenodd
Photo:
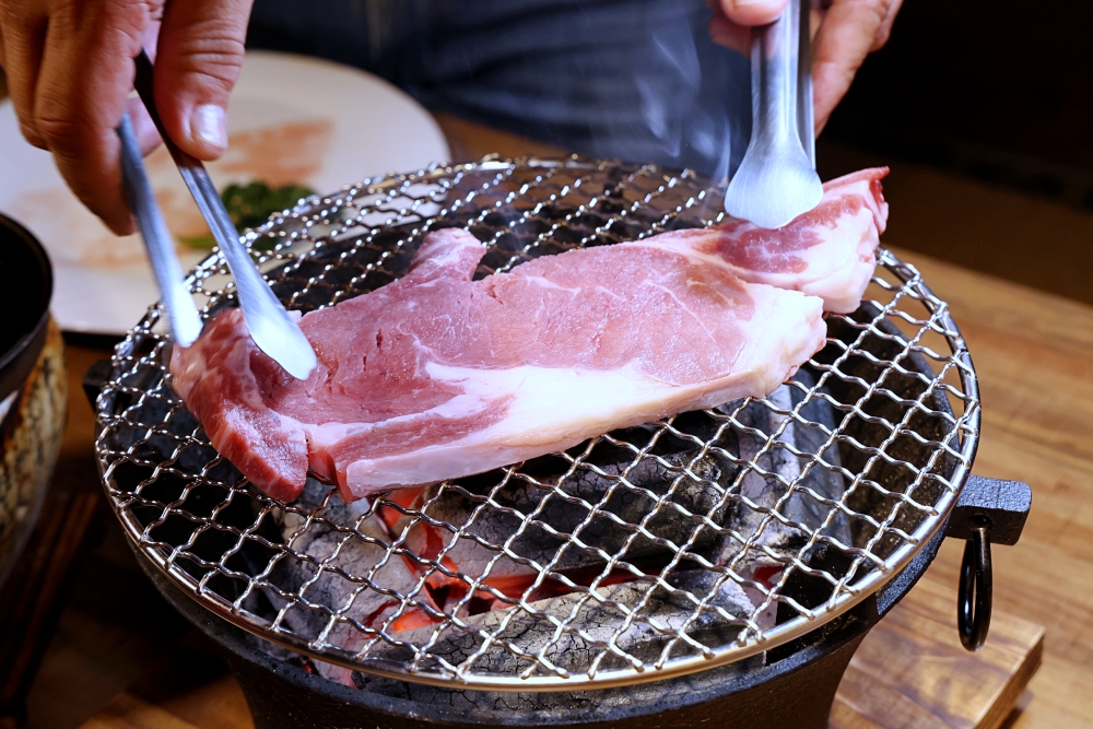
<path id="1" fill-rule="evenodd" d="M 965 540 L 956 625 L 967 650 L 982 648 L 990 628 L 990 544 L 1016 544 L 1031 506 L 1027 483 L 971 475 L 953 508 L 945 537 Z"/>

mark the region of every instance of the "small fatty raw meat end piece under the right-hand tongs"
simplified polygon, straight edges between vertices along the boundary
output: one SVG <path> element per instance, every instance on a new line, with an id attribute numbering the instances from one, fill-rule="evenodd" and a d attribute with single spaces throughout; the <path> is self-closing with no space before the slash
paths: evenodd
<path id="1" fill-rule="evenodd" d="M 774 231 L 730 217 L 645 243 L 687 250 L 744 281 L 819 296 L 824 310 L 849 314 L 861 303 L 877 267 L 875 250 L 888 223 L 881 192 L 888 172 L 862 169 L 826 183 L 819 207 Z"/>

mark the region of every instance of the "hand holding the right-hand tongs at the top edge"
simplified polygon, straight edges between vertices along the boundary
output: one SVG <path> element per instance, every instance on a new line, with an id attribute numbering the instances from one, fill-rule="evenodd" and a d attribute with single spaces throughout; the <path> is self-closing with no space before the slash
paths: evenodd
<path id="1" fill-rule="evenodd" d="M 803 0 L 808 1 L 808 0 Z M 813 10 L 812 97 L 816 134 L 827 124 L 866 56 L 888 43 L 903 0 L 831 0 Z M 713 0 L 714 40 L 748 56 L 751 28 L 774 22 L 788 0 Z"/>

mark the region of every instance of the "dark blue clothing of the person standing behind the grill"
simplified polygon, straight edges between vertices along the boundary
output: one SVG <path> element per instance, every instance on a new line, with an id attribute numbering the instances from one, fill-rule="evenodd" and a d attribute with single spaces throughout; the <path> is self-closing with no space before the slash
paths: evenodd
<path id="1" fill-rule="evenodd" d="M 563 149 L 724 178 L 750 133 L 749 64 L 710 16 L 703 0 L 257 0 L 250 43 Z"/>

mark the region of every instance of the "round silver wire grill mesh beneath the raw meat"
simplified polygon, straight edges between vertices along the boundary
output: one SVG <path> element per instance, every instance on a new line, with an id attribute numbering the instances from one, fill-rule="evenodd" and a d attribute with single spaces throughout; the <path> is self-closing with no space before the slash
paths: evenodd
<path id="1" fill-rule="evenodd" d="M 459 225 L 482 239 L 490 250 L 479 275 L 489 275 L 537 256 L 716 223 L 721 196 L 689 173 L 655 166 L 487 157 L 365 180 L 305 201 L 247 236 L 278 295 L 307 311 L 393 280 L 437 227 Z M 246 484 L 171 389 L 171 345 L 163 313 L 153 307 L 118 345 L 97 401 L 101 473 L 129 537 L 175 585 L 236 625 L 313 658 L 491 691 L 625 685 L 729 663 L 814 630 L 882 586 L 943 522 L 974 457 L 978 395 L 964 342 L 917 271 L 889 251 L 879 255 L 866 302 L 851 316 L 828 315 L 827 346 L 804 367 L 814 383 L 791 383 L 789 405 L 772 398 L 730 403 L 442 484 L 424 503 L 407 505 L 396 492 L 355 510 L 315 483 L 309 493 L 318 496 L 290 505 Z M 218 256 L 189 281 L 203 316 L 233 299 Z M 834 427 L 802 415 L 811 401 L 826 403 Z M 768 409 L 780 424 L 756 428 L 743 416 L 748 408 Z M 822 447 L 783 442 L 790 426 L 820 434 Z M 751 457 L 733 447 L 744 437 L 760 444 Z M 672 460 L 667 451 L 686 457 Z M 597 460 L 603 452 L 624 455 L 624 467 L 604 470 Z M 796 460 L 799 475 L 772 470 L 773 455 Z M 732 478 L 712 481 L 698 468 L 703 459 Z M 662 469 L 663 487 L 631 482 L 643 461 Z M 813 469 L 841 475 L 845 493 L 836 501 L 810 489 Z M 776 503 L 743 494 L 749 472 L 781 484 Z M 566 486 L 587 473 L 607 484 L 599 501 Z M 695 484 L 713 493 L 708 508 L 679 497 Z M 538 501 L 514 508 L 505 501 L 510 489 Z M 610 502 L 620 496 L 644 499 L 645 515 L 620 518 Z M 791 498 L 819 505 L 822 525 L 788 518 Z M 457 510 L 461 522 L 448 524 L 443 512 L 437 518 L 437 505 L 456 502 L 465 507 Z M 561 503 L 576 514 L 568 531 L 544 516 Z M 369 526 L 379 515 L 386 531 Z M 685 525 L 678 542 L 650 527 L 661 517 Z M 491 519 L 507 531 L 483 537 L 474 525 Z M 849 540 L 832 536 L 841 519 Z M 624 537 L 621 545 L 585 541 L 595 524 Z M 750 527 L 741 531 L 743 524 Z M 411 534 L 422 525 L 443 537 L 439 553 L 415 551 Z M 779 528 L 803 534 L 799 546 L 772 549 L 764 534 Z M 549 560 L 515 546 L 542 534 L 557 545 Z M 729 556 L 702 546 L 710 539 L 731 545 Z M 475 542 L 490 560 L 473 569 L 454 564 L 448 555 L 460 541 Z M 632 556 L 639 542 L 661 556 Z M 350 553 L 371 556 L 354 562 L 344 558 Z M 566 571 L 566 553 L 595 566 Z M 747 567 L 756 563 L 776 568 L 760 578 Z M 506 565 L 530 577 L 515 590 L 498 587 L 491 572 Z M 680 586 L 674 577 L 684 572 L 704 574 L 701 589 Z M 795 584 L 809 579 L 822 586 L 823 599 L 800 597 Z M 626 599 L 619 581 L 631 588 Z M 446 602 L 437 599 L 438 584 L 447 586 Z M 745 589 L 749 610 L 719 601 L 732 584 Z M 543 601 L 544 586 L 571 596 Z M 354 609 L 377 599 L 385 601 L 379 615 Z M 474 615 L 480 600 L 508 610 Z M 666 601 L 677 609 L 667 618 Z M 426 625 L 400 630 L 411 619 Z M 710 621 L 719 628 L 707 630 Z M 460 649 L 453 651 L 455 644 Z"/>

